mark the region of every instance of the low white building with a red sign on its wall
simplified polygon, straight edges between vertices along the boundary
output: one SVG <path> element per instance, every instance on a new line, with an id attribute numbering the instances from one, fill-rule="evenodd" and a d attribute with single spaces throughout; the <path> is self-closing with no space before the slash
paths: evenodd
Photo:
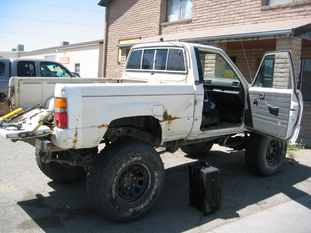
<path id="1" fill-rule="evenodd" d="M 66 66 L 71 72 L 81 77 L 94 78 L 102 76 L 104 40 L 68 44 L 24 52 L 19 57 L 49 59 Z"/>

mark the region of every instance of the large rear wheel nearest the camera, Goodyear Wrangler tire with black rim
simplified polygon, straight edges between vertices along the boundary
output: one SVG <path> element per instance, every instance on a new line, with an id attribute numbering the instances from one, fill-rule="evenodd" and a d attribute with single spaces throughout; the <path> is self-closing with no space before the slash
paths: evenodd
<path id="1" fill-rule="evenodd" d="M 155 204 L 164 165 L 151 146 L 124 139 L 107 145 L 95 158 L 87 192 L 99 212 L 115 222 L 142 217 Z"/>

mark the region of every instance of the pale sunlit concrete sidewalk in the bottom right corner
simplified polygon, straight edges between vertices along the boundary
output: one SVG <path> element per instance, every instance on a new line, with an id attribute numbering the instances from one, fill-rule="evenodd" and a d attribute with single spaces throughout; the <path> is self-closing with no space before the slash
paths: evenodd
<path id="1" fill-rule="evenodd" d="M 311 195 L 241 218 L 207 233 L 311 232 Z"/>

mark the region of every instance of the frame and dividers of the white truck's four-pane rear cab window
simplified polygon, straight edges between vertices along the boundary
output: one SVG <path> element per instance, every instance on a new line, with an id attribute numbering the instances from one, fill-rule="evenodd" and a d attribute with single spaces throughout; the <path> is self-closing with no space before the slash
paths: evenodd
<path id="1" fill-rule="evenodd" d="M 142 69 L 142 62 L 143 62 L 143 57 L 144 57 L 144 51 L 145 50 L 152 50 L 152 49 L 168 49 L 167 51 L 167 55 L 166 55 L 166 64 L 165 64 L 165 70 L 155 70 L 154 67 L 155 67 L 155 62 L 153 63 L 153 69 L 152 70 L 146 70 L 146 69 Z M 182 50 L 183 51 L 183 60 L 184 60 L 184 66 L 185 66 L 185 71 L 169 71 L 167 70 L 167 61 L 168 61 L 168 55 L 169 55 L 169 49 L 178 49 L 178 50 Z M 131 53 L 129 54 L 128 57 L 131 57 L 132 55 L 132 52 L 133 51 L 137 51 L 137 50 L 142 50 L 142 57 L 141 57 L 141 62 L 140 62 L 140 69 L 128 69 L 127 66 L 128 66 L 128 61 L 129 59 L 127 59 L 126 61 L 126 64 L 125 64 L 125 70 L 126 71 L 131 71 L 131 72 L 157 72 L 157 73 L 178 73 L 178 74 L 187 74 L 188 73 L 188 67 L 187 67 L 187 57 L 186 57 L 186 53 L 185 53 L 185 50 L 184 48 L 176 48 L 176 47 L 150 47 L 150 48 L 137 48 L 137 49 L 133 49 L 131 50 Z M 155 54 L 154 54 L 154 57 L 156 56 L 156 51 L 155 51 Z"/>

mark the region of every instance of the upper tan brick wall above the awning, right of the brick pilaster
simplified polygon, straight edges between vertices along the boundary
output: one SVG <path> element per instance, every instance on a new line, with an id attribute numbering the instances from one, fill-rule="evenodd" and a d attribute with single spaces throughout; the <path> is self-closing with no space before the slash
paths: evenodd
<path id="1" fill-rule="evenodd" d="M 191 21 L 162 24 L 162 34 L 310 17 L 311 0 L 263 6 L 254 0 L 193 0 Z M 163 21 L 165 22 L 165 21 Z"/>

